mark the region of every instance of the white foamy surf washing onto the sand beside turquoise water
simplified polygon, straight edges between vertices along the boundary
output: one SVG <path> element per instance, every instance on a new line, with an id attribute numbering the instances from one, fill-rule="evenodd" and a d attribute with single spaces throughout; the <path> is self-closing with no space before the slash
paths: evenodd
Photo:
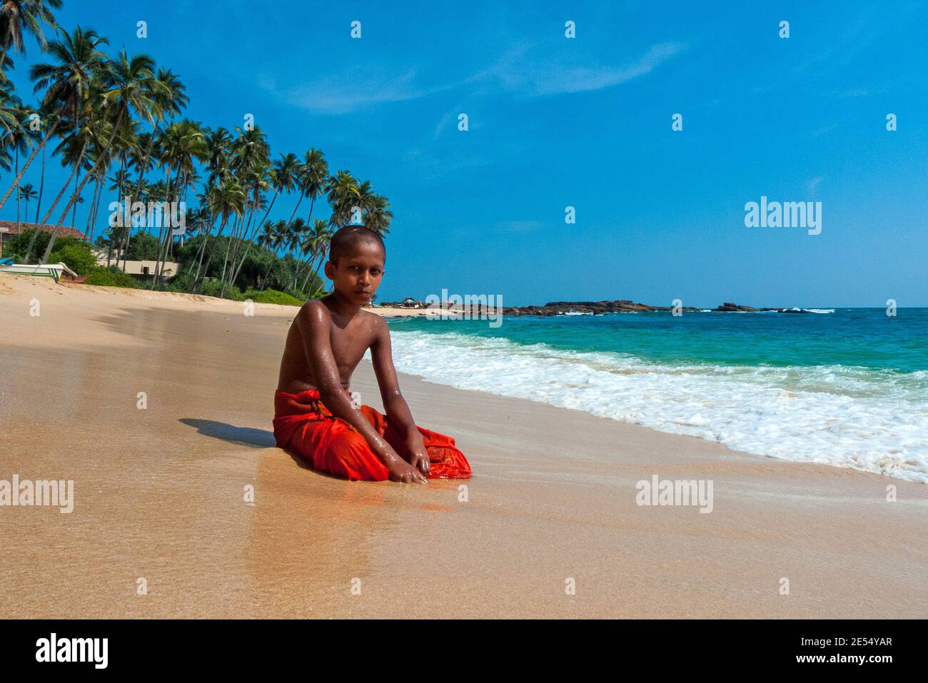
<path id="1" fill-rule="evenodd" d="M 396 369 L 745 453 L 928 483 L 928 373 L 670 365 L 456 332 L 393 331 Z M 369 358 L 369 352 L 368 356 Z"/>

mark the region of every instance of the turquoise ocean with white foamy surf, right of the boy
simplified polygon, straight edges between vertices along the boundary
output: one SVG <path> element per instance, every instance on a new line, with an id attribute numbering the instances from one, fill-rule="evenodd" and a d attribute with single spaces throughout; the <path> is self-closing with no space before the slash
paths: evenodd
<path id="1" fill-rule="evenodd" d="M 390 318 L 401 372 L 928 483 L 928 309 Z"/>

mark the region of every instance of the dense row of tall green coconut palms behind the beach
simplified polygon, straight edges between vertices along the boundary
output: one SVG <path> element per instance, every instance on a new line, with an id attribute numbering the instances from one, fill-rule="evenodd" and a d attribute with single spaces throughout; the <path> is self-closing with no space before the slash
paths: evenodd
<path id="1" fill-rule="evenodd" d="M 154 238 L 150 286 L 159 288 L 164 264 L 196 238 L 197 251 L 185 263 L 183 281 L 189 290 L 200 291 L 210 278 L 219 283 L 220 296 L 235 287 L 243 266 L 253 261 L 250 256 L 268 251 L 276 258 L 266 264 L 267 272 L 253 277 L 263 283 L 277 277 L 286 290 L 316 296 L 321 286 L 316 271 L 336 229 L 360 223 L 381 235 L 389 232 L 390 202 L 369 181 L 346 170 L 329 173 L 325 155 L 316 148 L 274 159 L 264 131 L 251 122 L 228 130 L 182 118 L 188 97 L 177 74 L 124 48 L 110 56 L 109 42 L 93 29 L 61 28 L 53 14 L 60 6 L 61 0 L 4 0 L 0 8 L 0 169 L 13 174 L 0 209 L 15 197 L 18 223 L 21 209 L 30 213 L 32 202 L 33 222 L 54 221 L 41 255 L 33 253 L 39 251 L 40 231 L 32 232 L 25 263 L 45 264 L 60 228 L 69 214 L 73 225 L 77 205 L 86 199 L 86 242 L 94 242 L 98 223 L 105 224 L 96 243 L 115 265 L 122 261 L 123 272 L 131 240 Z M 26 35 L 43 53 L 43 60 L 29 67 L 36 97 L 32 104 L 23 102 L 7 77 L 13 58 L 25 54 Z M 40 154 L 35 187 L 23 180 Z M 56 159 L 70 174 L 60 188 L 45 187 L 47 162 Z M 186 230 L 174 231 L 164 212 L 120 226 L 113 220 L 113 203 L 105 201 L 108 191 L 120 207 L 136 201 L 164 208 L 171 202 L 190 205 L 182 216 Z M 292 202 L 288 220 L 268 220 L 278 200 Z M 328 218 L 314 217 L 317 200 L 328 204 Z M 306 213 L 300 213 L 301 207 Z M 288 267 L 281 269 L 285 262 Z"/>

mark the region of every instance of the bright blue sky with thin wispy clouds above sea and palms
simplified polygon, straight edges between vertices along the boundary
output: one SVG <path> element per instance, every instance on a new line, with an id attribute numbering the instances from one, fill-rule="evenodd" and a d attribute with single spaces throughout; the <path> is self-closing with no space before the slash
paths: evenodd
<path id="1" fill-rule="evenodd" d="M 380 301 L 928 305 L 924 2 L 65 0 L 58 20 L 173 69 L 185 116 L 252 113 L 275 156 L 370 180 L 395 214 Z M 745 227 L 762 195 L 821 201 L 821 234 Z"/>

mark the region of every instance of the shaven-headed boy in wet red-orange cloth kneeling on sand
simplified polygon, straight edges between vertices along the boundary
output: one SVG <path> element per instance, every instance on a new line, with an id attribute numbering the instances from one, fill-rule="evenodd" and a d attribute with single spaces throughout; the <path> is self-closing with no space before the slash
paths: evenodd
<path id="1" fill-rule="evenodd" d="M 349 480 L 467 479 L 470 463 L 445 434 L 417 427 L 393 369 L 387 321 L 367 311 L 384 275 L 380 235 L 345 226 L 331 239 L 332 293 L 293 319 L 274 394 L 277 446 Z M 357 406 L 348 385 L 370 349 L 386 415 Z"/>

